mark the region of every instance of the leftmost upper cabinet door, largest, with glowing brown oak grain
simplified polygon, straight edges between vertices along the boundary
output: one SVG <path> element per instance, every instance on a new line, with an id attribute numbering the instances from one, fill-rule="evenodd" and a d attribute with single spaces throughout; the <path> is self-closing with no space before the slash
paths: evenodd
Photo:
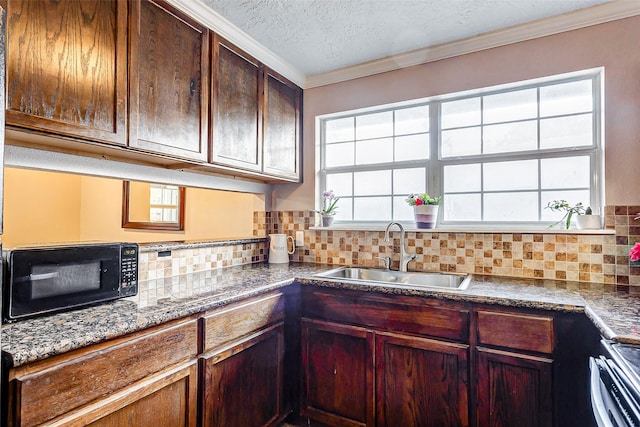
<path id="1" fill-rule="evenodd" d="M 7 124 L 126 143 L 127 2 L 9 0 Z"/>

